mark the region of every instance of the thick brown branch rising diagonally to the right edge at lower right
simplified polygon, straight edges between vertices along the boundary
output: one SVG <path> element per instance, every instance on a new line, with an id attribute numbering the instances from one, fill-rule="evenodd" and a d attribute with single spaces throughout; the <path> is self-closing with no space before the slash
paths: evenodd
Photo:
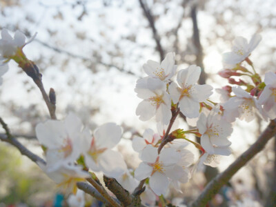
<path id="1" fill-rule="evenodd" d="M 199 197 L 193 202 L 191 206 L 200 207 L 206 206 L 208 201 L 215 196 L 219 189 L 226 184 L 235 173 L 246 165 L 250 159 L 252 159 L 258 152 L 264 149 L 266 143 L 276 134 L 276 119 L 271 120 L 266 130 L 262 132 L 257 141 L 248 148 L 242 155 L 240 155 L 236 161 L 233 162 L 224 172 L 217 175 L 209 184 L 206 186 L 204 191 Z"/>

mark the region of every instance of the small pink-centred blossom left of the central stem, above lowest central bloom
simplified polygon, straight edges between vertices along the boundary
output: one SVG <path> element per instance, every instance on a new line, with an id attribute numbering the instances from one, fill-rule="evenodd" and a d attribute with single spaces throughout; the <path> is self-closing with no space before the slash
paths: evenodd
<path id="1" fill-rule="evenodd" d="M 161 139 L 160 135 L 155 133 L 152 129 L 148 128 L 145 130 L 142 137 L 134 137 L 132 140 L 132 148 L 136 152 L 141 152 L 148 144 L 151 144 L 152 146 L 155 146 L 157 144 L 157 141 Z"/>

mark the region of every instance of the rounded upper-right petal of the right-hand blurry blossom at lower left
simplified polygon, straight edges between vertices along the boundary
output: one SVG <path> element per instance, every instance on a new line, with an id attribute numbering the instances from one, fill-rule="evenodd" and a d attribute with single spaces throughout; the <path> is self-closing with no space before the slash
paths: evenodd
<path id="1" fill-rule="evenodd" d="M 121 139 L 121 127 L 115 123 L 99 126 L 94 132 L 95 141 L 99 148 L 113 148 Z"/>

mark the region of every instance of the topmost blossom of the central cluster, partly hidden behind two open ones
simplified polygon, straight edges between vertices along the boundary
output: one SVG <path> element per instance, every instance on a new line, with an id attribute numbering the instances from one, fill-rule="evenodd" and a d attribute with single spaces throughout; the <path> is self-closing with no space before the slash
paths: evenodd
<path id="1" fill-rule="evenodd" d="M 168 81 L 175 75 L 177 69 L 177 66 L 175 66 L 175 52 L 169 52 L 161 64 L 157 61 L 148 60 L 143 68 L 148 76 L 161 81 Z"/>

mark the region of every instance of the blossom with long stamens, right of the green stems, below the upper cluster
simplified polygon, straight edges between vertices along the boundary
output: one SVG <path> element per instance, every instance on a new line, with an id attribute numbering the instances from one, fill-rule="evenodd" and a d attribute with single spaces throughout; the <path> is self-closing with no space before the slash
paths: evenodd
<path id="1" fill-rule="evenodd" d="M 230 146 L 231 142 L 227 137 L 233 132 L 232 125 L 221 119 L 218 110 L 219 105 L 215 106 L 207 117 L 201 113 L 197 121 L 197 128 L 201 134 L 201 146 L 211 155 L 220 155 L 218 146 Z"/>

